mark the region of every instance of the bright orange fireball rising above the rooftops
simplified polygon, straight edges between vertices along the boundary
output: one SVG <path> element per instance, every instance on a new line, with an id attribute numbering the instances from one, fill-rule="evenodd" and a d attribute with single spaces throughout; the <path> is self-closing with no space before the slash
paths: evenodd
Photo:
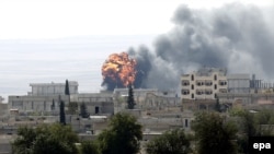
<path id="1" fill-rule="evenodd" d="M 102 75 L 114 82 L 121 81 L 124 86 L 127 86 L 135 81 L 136 64 L 136 60 L 128 58 L 126 52 L 112 54 L 102 66 Z"/>

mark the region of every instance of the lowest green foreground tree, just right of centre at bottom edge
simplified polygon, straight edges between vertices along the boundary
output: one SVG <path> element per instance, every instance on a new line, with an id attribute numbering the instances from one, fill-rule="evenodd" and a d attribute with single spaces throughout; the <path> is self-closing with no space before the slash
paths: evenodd
<path id="1" fill-rule="evenodd" d="M 146 145 L 147 154 L 187 154 L 191 152 L 190 138 L 184 130 L 167 131 Z"/>

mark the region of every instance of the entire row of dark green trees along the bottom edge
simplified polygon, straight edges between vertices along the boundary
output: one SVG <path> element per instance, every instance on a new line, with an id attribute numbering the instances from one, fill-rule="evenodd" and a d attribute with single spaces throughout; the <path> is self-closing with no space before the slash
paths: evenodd
<path id="1" fill-rule="evenodd" d="M 274 111 L 250 112 L 233 109 L 227 114 L 197 112 L 192 122 L 194 133 L 174 129 L 148 141 L 148 154 L 236 154 L 248 153 L 248 137 L 273 135 Z M 79 142 L 70 126 L 55 123 L 37 128 L 20 128 L 12 143 L 14 154 L 136 154 L 140 151 L 141 126 L 136 117 L 118 112 L 94 141 Z"/>

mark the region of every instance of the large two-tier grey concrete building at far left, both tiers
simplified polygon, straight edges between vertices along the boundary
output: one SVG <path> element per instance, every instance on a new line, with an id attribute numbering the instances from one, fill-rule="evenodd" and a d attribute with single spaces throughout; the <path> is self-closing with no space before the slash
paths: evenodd
<path id="1" fill-rule="evenodd" d="M 65 83 L 32 83 L 32 91 L 23 96 L 9 96 L 8 108 L 19 114 L 39 112 L 58 114 L 60 100 L 68 104 L 70 97 L 65 95 Z M 78 82 L 69 82 L 70 94 L 78 94 Z"/>

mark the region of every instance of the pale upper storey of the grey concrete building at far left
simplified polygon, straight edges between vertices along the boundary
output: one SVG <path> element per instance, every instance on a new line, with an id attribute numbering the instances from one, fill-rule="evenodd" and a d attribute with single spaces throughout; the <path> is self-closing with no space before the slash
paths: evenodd
<path id="1" fill-rule="evenodd" d="M 50 95 L 64 95 L 65 94 L 65 82 L 64 83 L 31 83 L 32 92 L 27 95 L 31 96 L 50 96 Z M 78 82 L 69 81 L 69 93 L 78 94 Z"/>

